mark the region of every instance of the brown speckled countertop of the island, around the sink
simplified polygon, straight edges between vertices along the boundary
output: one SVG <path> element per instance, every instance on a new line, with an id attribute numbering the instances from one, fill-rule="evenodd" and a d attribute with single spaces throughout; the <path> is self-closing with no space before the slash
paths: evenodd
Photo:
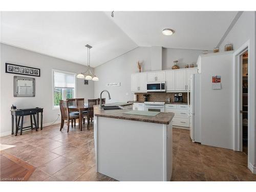
<path id="1" fill-rule="evenodd" d="M 98 117 L 109 117 L 115 119 L 126 119 L 132 121 L 143 121 L 150 123 L 169 124 L 174 117 L 174 113 L 163 113 L 160 112 L 156 116 L 144 116 L 144 115 L 130 115 L 123 114 L 124 112 L 132 111 L 131 107 L 125 107 L 124 110 L 103 110 L 99 111 L 99 105 L 94 105 L 94 115 Z"/>

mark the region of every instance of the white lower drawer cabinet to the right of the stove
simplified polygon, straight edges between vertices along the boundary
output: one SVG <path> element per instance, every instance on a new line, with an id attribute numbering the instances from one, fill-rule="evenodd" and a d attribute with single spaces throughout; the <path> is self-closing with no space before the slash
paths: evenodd
<path id="1" fill-rule="evenodd" d="M 165 112 L 174 113 L 173 125 L 189 126 L 189 117 L 187 114 L 188 105 L 186 104 L 165 104 Z"/>

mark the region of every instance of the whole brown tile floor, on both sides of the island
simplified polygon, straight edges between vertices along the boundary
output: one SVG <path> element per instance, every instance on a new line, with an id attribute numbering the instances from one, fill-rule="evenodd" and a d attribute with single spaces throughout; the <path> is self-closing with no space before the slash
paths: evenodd
<path id="1" fill-rule="evenodd" d="M 80 132 L 59 124 L 22 136 L 1 137 L 4 150 L 35 168 L 29 181 L 115 181 L 95 172 L 93 125 Z M 172 181 L 256 181 L 240 152 L 191 142 L 188 130 L 173 129 Z"/>

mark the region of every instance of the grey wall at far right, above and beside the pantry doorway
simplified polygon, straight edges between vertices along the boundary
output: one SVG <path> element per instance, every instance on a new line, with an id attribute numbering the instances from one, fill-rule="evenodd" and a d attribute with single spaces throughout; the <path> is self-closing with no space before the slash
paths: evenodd
<path id="1" fill-rule="evenodd" d="M 233 26 L 228 33 L 220 48 L 223 50 L 224 46 L 228 43 L 233 44 L 233 49 L 239 49 L 247 40 L 249 40 L 249 163 L 254 167 L 254 173 L 256 174 L 256 85 L 255 85 L 255 35 L 256 35 L 256 12 L 245 11 L 242 13 L 237 23 Z M 251 167 L 251 169 L 252 169 Z"/>

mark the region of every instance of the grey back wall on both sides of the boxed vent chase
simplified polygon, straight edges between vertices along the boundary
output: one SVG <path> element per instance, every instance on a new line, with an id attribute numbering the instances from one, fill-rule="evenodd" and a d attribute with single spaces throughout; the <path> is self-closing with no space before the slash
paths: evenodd
<path id="1" fill-rule="evenodd" d="M 152 71 L 151 48 L 138 47 L 124 55 L 95 68 L 99 81 L 95 82 L 94 93 L 98 97 L 100 91 L 107 89 L 111 93 L 111 100 L 106 102 L 126 102 L 133 100 L 131 92 L 131 74 L 138 72 L 137 60 L 144 60 L 142 72 Z M 181 68 L 185 63 L 196 63 L 200 50 L 165 49 L 162 50 L 162 70 L 170 69 L 174 60 L 179 60 Z M 169 64 L 171 65 L 169 67 Z M 121 82 L 120 87 L 106 87 L 108 82 Z M 104 97 L 106 95 L 104 94 Z"/>

